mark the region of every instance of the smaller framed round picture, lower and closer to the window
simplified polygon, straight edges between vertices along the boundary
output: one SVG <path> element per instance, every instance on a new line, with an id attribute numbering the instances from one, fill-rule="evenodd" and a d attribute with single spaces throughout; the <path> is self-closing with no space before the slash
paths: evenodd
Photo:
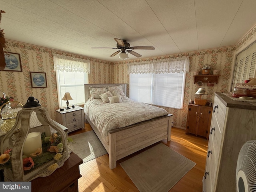
<path id="1" fill-rule="evenodd" d="M 47 87 L 46 73 L 44 72 L 30 72 L 30 80 L 32 88 Z"/>

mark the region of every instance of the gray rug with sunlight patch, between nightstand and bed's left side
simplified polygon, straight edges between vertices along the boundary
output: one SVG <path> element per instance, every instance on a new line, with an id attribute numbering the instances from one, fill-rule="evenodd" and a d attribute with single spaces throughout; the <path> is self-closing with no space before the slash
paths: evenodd
<path id="1" fill-rule="evenodd" d="M 76 143 L 68 143 L 68 145 L 70 145 L 72 151 L 84 161 L 83 163 L 107 154 L 106 149 L 101 144 L 94 131 L 88 131 L 69 137 Z"/>

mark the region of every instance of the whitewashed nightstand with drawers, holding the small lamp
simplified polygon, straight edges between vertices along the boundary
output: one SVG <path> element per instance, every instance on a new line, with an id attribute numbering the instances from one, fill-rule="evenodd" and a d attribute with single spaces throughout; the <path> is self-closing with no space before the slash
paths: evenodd
<path id="1" fill-rule="evenodd" d="M 77 129 L 84 129 L 84 108 L 75 106 L 75 108 L 56 110 L 57 122 L 68 128 L 68 133 Z"/>

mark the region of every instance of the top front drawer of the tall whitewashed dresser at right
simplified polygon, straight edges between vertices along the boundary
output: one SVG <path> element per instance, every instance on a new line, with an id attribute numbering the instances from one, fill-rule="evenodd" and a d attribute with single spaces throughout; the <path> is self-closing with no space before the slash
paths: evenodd
<path id="1" fill-rule="evenodd" d="M 217 108 L 218 107 L 218 108 Z M 214 111 L 215 109 L 215 111 Z M 214 97 L 214 105 L 213 105 L 213 116 L 216 117 L 219 128 L 223 130 L 224 122 L 225 122 L 225 116 L 226 116 L 226 106 L 220 101 L 218 97 Z"/>

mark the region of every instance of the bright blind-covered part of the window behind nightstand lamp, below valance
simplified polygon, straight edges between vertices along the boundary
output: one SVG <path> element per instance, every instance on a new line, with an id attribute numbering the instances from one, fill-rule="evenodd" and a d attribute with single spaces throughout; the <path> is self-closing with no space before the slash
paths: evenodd
<path id="1" fill-rule="evenodd" d="M 69 106 L 84 104 L 84 84 L 88 83 L 88 73 L 56 70 L 56 80 L 60 108 L 66 107 L 66 101 L 62 100 L 65 92 L 69 92 L 73 98 Z"/>

